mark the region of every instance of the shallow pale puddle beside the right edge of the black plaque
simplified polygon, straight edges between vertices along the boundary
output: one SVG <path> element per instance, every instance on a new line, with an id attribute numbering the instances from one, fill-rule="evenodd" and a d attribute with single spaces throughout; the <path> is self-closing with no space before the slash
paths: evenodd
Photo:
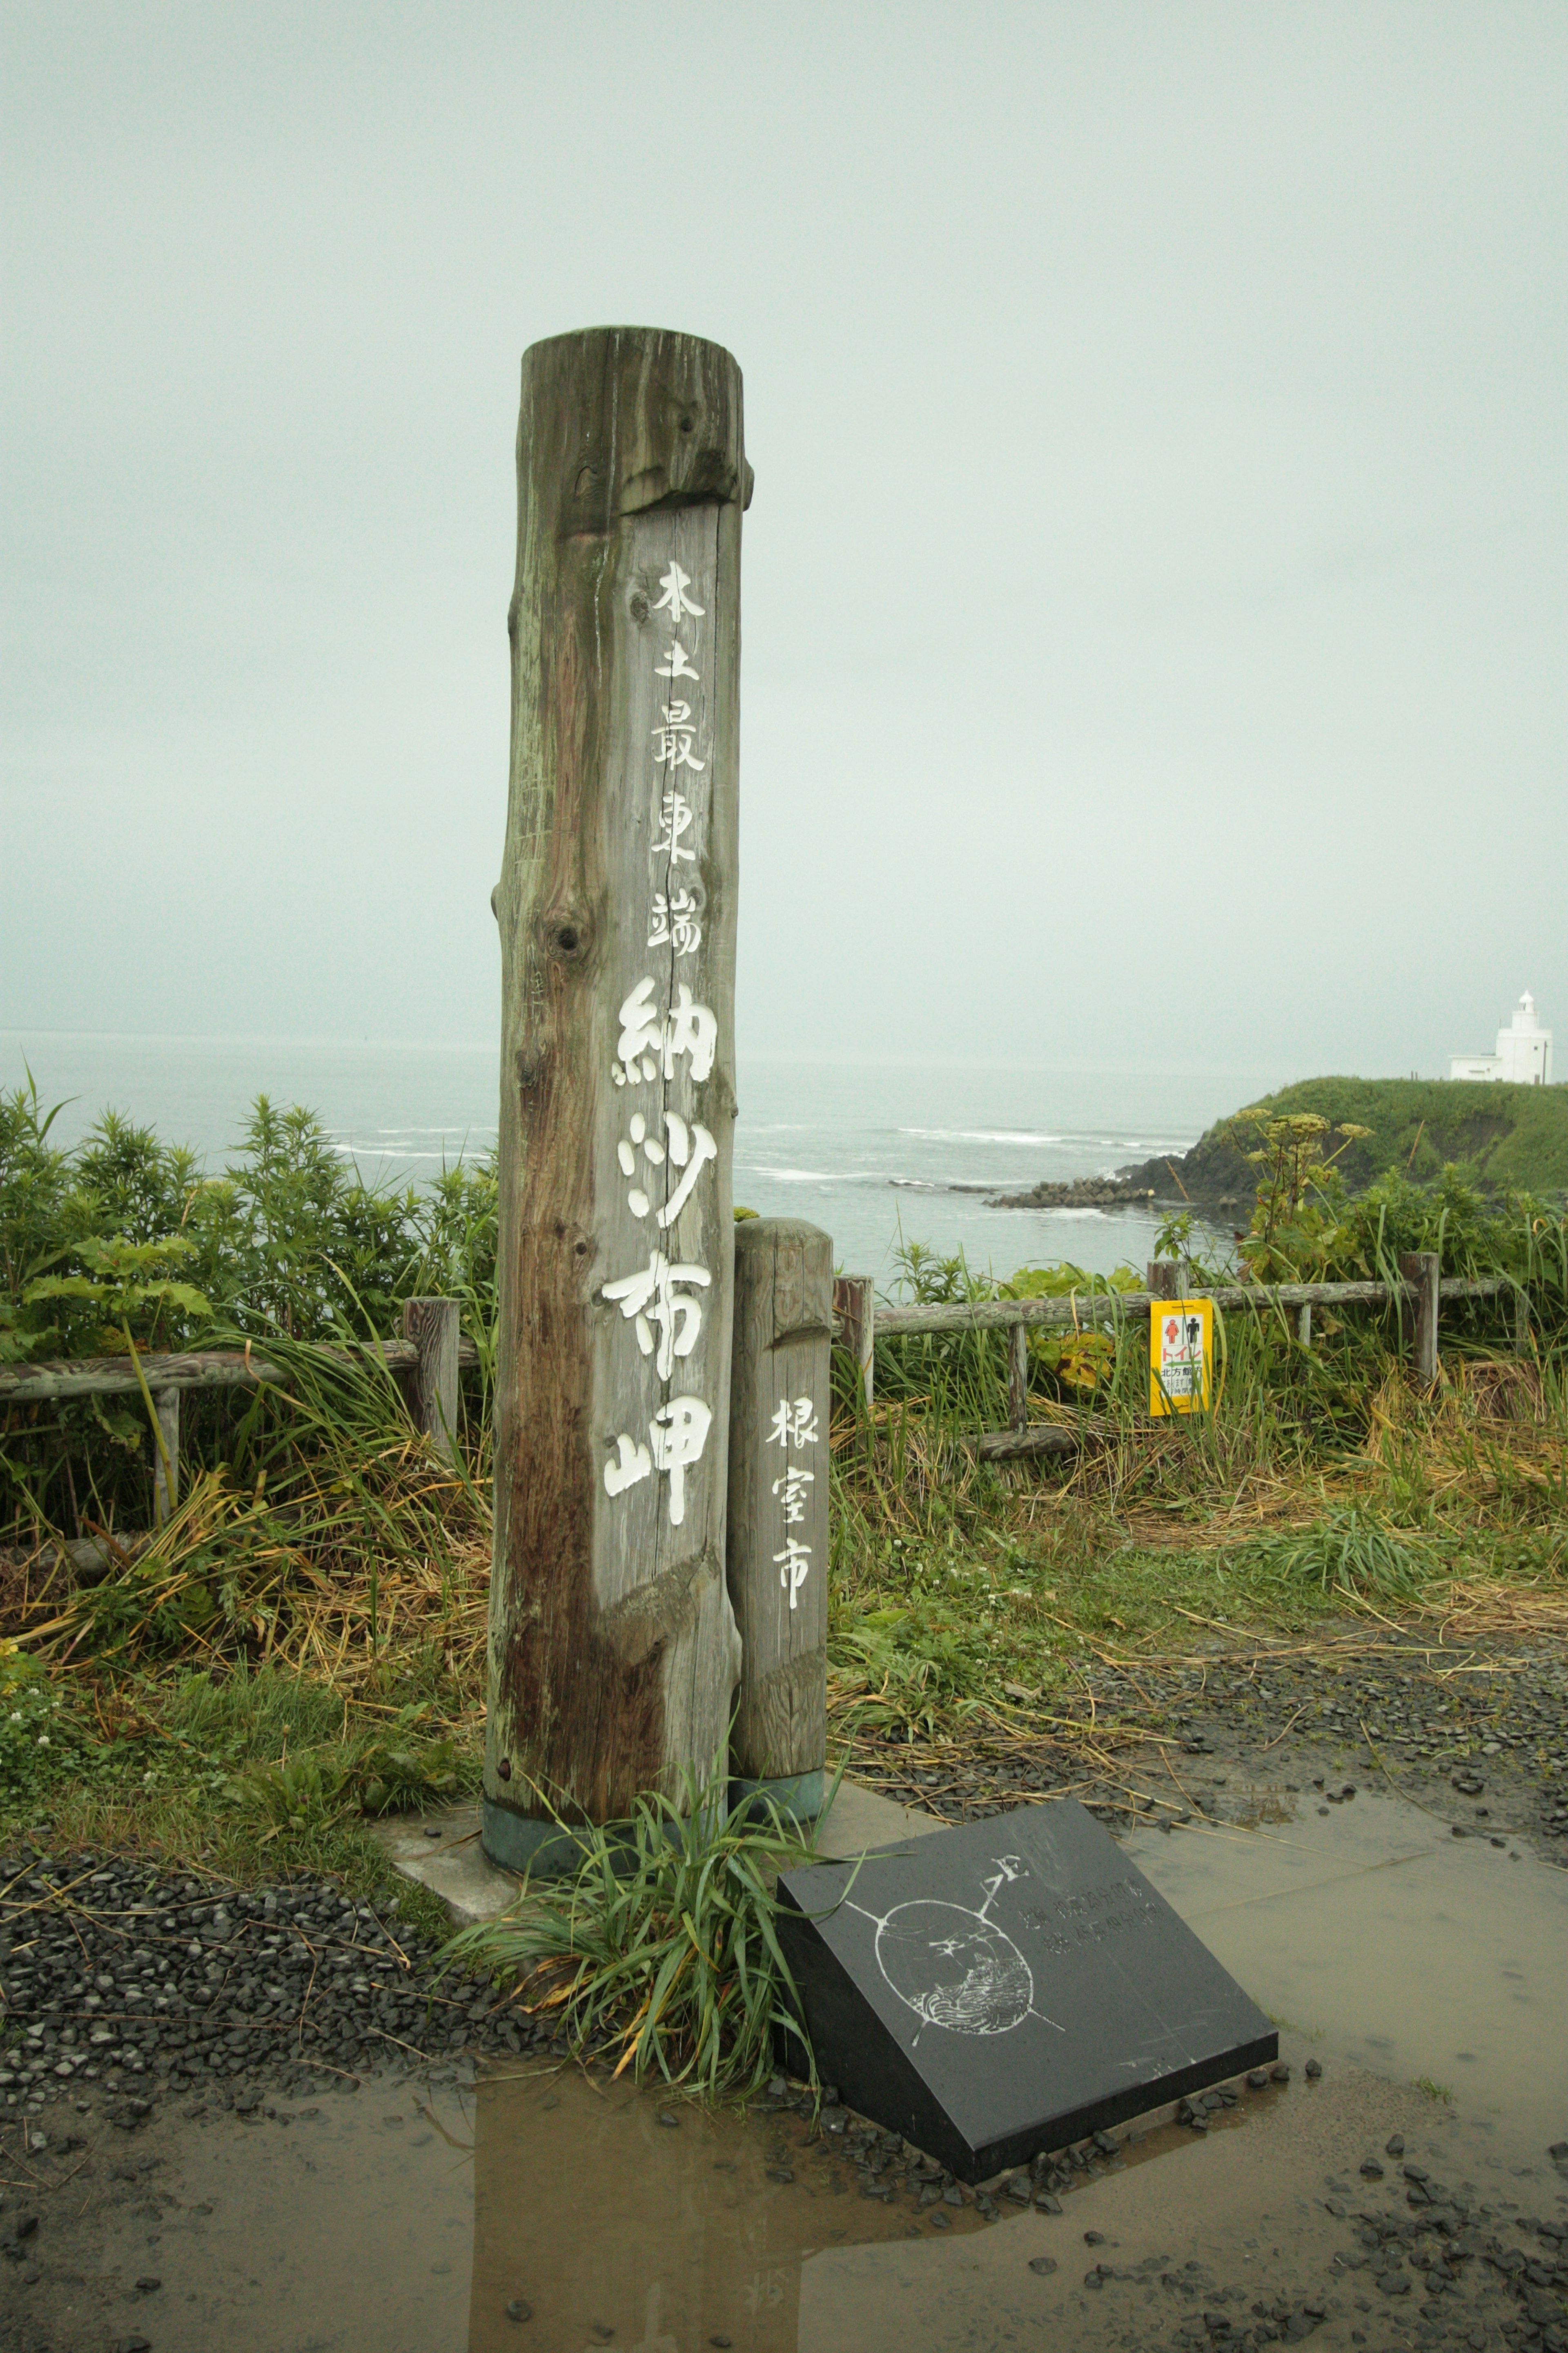
<path id="1" fill-rule="evenodd" d="M 1140 1831 L 1126 1847 L 1255 2002 L 1321 2035 L 1324 2057 L 1446 2085 L 1528 2162 L 1568 2132 L 1566 1871 L 1375 1793 L 1328 1817 L 1302 1798 L 1284 1826 Z"/>

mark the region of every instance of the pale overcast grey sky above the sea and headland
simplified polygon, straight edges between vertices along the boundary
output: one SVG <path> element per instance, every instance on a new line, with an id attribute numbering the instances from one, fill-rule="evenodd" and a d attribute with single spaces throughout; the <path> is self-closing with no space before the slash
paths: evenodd
<path id="1" fill-rule="evenodd" d="M 1561 0 L 0 21 L 0 1024 L 496 1033 L 517 360 L 642 322 L 743 1054 L 1568 1061 Z"/>

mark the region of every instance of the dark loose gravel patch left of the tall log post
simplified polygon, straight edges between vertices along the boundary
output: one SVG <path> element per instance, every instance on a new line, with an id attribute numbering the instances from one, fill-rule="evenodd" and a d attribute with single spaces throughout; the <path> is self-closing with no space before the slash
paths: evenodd
<path id="1" fill-rule="evenodd" d="M 0 1857 L 0 2118 L 82 2087 L 287 2094 L 548 2047 L 487 1984 L 329 1880 L 237 1889 L 115 1857 Z"/>

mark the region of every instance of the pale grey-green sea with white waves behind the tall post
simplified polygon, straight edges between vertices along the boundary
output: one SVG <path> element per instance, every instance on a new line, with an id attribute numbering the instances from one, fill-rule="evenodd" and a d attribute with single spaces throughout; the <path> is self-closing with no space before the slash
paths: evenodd
<path id="1" fill-rule="evenodd" d="M 275 1038 L 134 1038 L 0 1031 L 0 1087 L 38 1080 L 73 1144 L 106 1108 L 221 1167 L 256 1094 L 308 1104 L 367 1181 L 428 1179 L 496 1141 L 496 1047 Z M 804 1217 L 839 1266 L 896 1275 L 896 1252 L 961 1249 L 1011 1273 L 1072 1259 L 1143 1266 L 1143 1209 L 994 1209 L 997 1191 L 1103 1176 L 1182 1153 L 1204 1127 L 1279 1085 L 1269 1071 L 1006 1071 L 940 1064 L 743 1061 L 736 1200 Z"/>

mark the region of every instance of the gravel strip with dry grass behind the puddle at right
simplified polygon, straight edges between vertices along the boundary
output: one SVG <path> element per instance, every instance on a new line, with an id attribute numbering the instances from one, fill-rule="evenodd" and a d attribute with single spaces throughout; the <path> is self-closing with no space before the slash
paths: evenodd
<path id="1" fill-rule="evenodd" d="M 1375 1652 L 1366 1635 L 1338 1640 L 1345 1647 L 1328 1635 L 1307 1657 L 1260 1647 L 1204 1664 L 1093 1666 L 1079 1694 L 1053 1708 L 1086 1718 L 1093 1704 L 1098 1760 L 1070 1737 L 1032 1737 L 1020 1706 L 1018 1739 L 858 1741 L 853 1769 L 945 1821 L 1067 1788 L 1105 1819 L 1246 1819 L 1269 1788 L 1352 1774 L 1469 1835 L 1533 1838 L 1547 1857 L 1568 1840 L 1561 1645 L 1488 1657 L 1396 1631 Z M 1324 1800 L 1342 1802 L 1340 1788 Z M 1568 1861 L 1568 1847 L 1556 1852 Z"/>

